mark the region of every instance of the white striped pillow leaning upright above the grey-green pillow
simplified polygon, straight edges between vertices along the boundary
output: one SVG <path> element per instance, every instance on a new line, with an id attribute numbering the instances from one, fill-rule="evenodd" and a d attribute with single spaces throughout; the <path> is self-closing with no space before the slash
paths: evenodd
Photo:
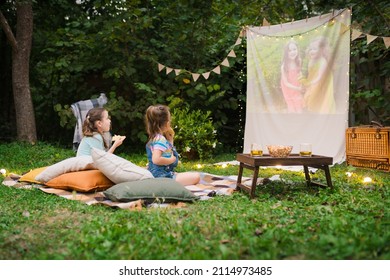
<path id="1" fill-rule="evenodd" d="M 117 155 L 92 148 L 94 165 L 115 184 L 154 178 L 146 168 Z"/>

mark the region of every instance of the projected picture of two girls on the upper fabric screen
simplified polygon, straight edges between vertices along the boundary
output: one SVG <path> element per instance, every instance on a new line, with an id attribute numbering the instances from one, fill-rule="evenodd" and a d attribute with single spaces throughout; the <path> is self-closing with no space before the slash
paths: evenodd
<path id="1" fill-rule="evenodd" d="M 345 111 L 348 63 L 341 22 L 301 21 L 249 28 L 248 94 L 254 111 L 335 114 Z M 344 96 L 343 96 L 344 95 Z"/>

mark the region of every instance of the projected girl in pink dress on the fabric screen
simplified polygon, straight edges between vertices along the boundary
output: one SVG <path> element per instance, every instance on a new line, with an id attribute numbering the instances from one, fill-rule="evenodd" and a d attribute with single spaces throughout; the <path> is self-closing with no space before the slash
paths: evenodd
<path id="1" fill-rule="evenodd" d="M 291 40 L 284 48 L 280 69 L 280 85 L 288 113 L 302 113 L 303 110 L 303 87 L 298 80 L 302 76 L 301 70 L 302 59 L 298 44 Z"/>

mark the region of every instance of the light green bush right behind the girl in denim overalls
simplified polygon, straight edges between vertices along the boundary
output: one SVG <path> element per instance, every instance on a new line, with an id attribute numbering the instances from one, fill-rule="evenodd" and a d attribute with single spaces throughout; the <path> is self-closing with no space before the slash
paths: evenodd
<path id="1" fill-rule="evenodd" d="M 190 158 L 211 158 L 217 145 L 216 130 L 210 117 L 211 112 L 174 109 L 172 125 L 175 130 L 175 146 L 181 156 Z"/>

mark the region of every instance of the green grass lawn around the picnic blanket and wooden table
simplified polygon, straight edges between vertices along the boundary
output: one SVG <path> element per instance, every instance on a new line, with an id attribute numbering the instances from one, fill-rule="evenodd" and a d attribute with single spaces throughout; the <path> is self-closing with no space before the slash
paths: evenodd
<path id="1" fill-rule="evenodd" d="M 146 164 L 143 154 L 119 155 Z M 22 174 L 72 156 L 48 144 L 0 144 L 0 169 Z M 202 163 L 200 171 L 237 175 L 238 166 L 213 165 L 234 159 L 184 162 L 179 171 Z M 0 259 L 390 259 L 389 173 L 335 165 L 334 190 L 308 188 L 303 172 L 260 171 L 275 174 L 282 181 L 259 186 L 253 200 L 237 192 L 180 209 L 141 211 L 0 184 Z M 322 171 L 314 176 L 325 181 Z M 373 182 L 363 183 L 366 176 Z"/>

